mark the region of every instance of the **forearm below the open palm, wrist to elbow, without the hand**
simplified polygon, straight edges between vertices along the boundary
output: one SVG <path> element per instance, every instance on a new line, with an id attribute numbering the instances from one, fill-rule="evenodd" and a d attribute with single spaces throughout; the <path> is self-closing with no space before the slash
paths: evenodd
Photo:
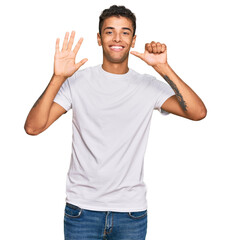
<path id="1" fill-rule="evenodd" d="M 53 100 L 62 86 L 65 78 L 53 75 L 47 88 L 31 108 L 26 122 L 25 130 L 27 132 L 37 131 L 45 127 Z"/>

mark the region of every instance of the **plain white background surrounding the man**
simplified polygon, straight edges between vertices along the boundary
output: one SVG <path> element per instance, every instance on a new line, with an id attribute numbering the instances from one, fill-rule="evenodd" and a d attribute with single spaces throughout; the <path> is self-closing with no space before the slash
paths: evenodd
<path id="1" fill-rule="evenodd" d="M 5 1 L 0 6 L 0 239 L 61 240 L 71 111 L 29 136 L 24 122 L 53 73 L 55 41 L 84 37 L 77 61 L 100 64 L 98 17 L 113 4 L 137 16 L 137 42 L 168 47 L 174 71 L 202 98 L 199 122 L 153 113 L 145 154 L 147 240 L 231 239 L 230 5 L 220 0 Z M 154 74 L 140 59 L 129 66 Z"/>

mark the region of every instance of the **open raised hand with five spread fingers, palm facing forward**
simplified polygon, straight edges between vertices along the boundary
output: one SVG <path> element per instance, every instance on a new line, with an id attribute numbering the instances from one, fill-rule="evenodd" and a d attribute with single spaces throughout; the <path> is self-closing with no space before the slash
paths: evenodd
<path id="1" fill-rule="evenodd" d="M 72 31 L 69 42 L 68 42 L 68 36 L 69 36 L 69 33 L 66 32 L 66 35 L 63 41 L 63 48 L 61 51 L 59 50 L 60 39 L 57 38 L 55 61 L 54 61 L 54 75 L 65 77 L 65 78 L 72 76 L 73 73 L 76 72 L 88 60 L 87 58 L 84 58 L 80 62 L 75 63 L 75 57 L 83 42 L 83 38 L 79 39 L 73 51 L 71 51 L 71 48 L 74 42 L 75 32 Z"/>

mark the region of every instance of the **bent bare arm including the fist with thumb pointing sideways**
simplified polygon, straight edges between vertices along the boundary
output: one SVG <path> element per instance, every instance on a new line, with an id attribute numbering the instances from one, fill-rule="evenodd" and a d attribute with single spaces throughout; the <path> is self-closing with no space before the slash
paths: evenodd
<path id="1" fill-rule="evenodd" d="M 191 120 L 201 120 L 207 110 L 199 96 L 172 70 L 167 63 L 167 47 L 160 43 L 147 43 L 145 52 L 131 52 L 152 66 L 172 87 L 175 96 L 167 99 L 162 109 Z"/>

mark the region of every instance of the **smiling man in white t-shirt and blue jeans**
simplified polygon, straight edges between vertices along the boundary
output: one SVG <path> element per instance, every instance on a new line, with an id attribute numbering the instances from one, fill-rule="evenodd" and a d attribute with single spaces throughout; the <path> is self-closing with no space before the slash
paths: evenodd
<path id="1" fill-rule="evenodd" d="M 105 9 L 97 40 L 103 64 L 78 70 L 82 44 L 75 32 L 56 41 L 54 74 L 31 109 L 25 130 L 37 135 L 73 110 L 73 149 L 67 175 L 65 239 L 144 240 L 147 231 L 143 157 L 153 109 L 191 120 L 206 116 L 201 99 L 171 69 L 167 47 L 136 41 L 136 17 L 123 6 Z M 167 83 L 128 68 L 129 52 L 146 62 Z"/>

